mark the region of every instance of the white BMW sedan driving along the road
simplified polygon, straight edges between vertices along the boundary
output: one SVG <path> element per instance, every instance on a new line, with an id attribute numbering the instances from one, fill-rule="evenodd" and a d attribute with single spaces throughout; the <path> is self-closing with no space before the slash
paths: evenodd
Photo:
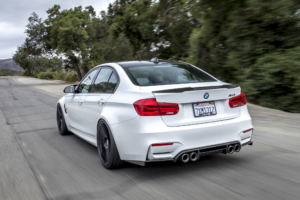
<path id="1" fill-rule="evenodd" d="M 123 161 L 194 162 L 252 145 L 241 88 L 184 62 L 102 64 L 64 92 L 57 103 L 60 134 L 96 146 L 106 168 Z"/>

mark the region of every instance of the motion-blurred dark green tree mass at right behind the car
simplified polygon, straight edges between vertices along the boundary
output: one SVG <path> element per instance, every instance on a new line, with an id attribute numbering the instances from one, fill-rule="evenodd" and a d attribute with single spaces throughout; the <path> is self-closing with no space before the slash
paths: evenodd
<path id="1" fill-rule="evenodd" d="M 299 111 L 298 1 L 195 2 L 202 27 L 193 30 L 187 60 L 240 84 L 251 102 Z"/>

